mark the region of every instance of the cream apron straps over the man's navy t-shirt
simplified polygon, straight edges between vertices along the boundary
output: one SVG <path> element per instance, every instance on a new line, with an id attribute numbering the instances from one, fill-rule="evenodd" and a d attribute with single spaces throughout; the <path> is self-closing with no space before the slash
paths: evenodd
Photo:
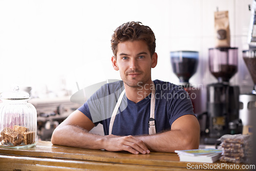
<path id="1" fill-rule="evenodd" d="M 156 101 L 156 98 L 155 98 L 155 92 L 156 92 L 155 84 L 153 82 L 153 90 L 151 92 L 150 119 L 148 119 L 148 134 L 149 135 L 155 135 L 156 134 L 156 126 L 155 126 L 155 101 Z M 114 124 L 114 121 L 115 121 L 115 118 L 116 118 L 116 115 L 117 115 L 118 108 L 119 108 L 119 106 L 121 104 L 121 101 L 123 99 L 124 93 L 125 93 L 125 89 L 120 94 L 120 96 L 117 100 L 116 106 L 114 108 L 114 111 L 112 113 L 112 116 L 111 116 L 111 119 L 110 119 L 109 135 L 112 134 L 113 124 Z"/>

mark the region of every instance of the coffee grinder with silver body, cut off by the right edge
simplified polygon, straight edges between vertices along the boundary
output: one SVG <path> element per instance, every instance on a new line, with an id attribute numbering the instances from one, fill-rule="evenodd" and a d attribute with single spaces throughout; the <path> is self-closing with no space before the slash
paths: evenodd
<path id="1" fill-rule="evenodd" d="M 239 97 L 239 118 L 243 123 L 243 134 L 252 134 L 252 121 L 256 115 L 256 49 L 243 51 L 243 59 L 251 75 L 254 87 L 250 93 L 241 94 Z"/>

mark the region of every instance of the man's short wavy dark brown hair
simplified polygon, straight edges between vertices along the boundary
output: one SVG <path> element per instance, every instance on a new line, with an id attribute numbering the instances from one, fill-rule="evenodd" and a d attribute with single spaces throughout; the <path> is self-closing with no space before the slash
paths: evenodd
<path id="1" fill-rule="evenodd" d="M 117 45 L 124 41 L 144 40 L 151 56 L 156 50 L 156 38 L 150 27 L 140 22 L 127 22 L 119 26 L 112 34 L 111 48 L 116 57 Z"/>

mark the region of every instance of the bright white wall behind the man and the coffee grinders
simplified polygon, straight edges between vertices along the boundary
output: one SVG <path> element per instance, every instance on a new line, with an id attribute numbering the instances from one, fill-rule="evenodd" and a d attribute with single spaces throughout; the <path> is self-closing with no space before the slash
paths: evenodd
<path id="1" fill-rule="evenodd" d="M 116 27 L 131 20 L 150 26 L 156 34 L 158 66 L 152 71 L 153 79 L 179 83 L 169 52 L 196 50 L 199 66 L 190 82 L 206 86 L 217 81 L 208 70 L 217 7 L 228 10 L 231 46 L 239 48 L 239 71 L 230 82 L 252 86 L 242 59 L 242 50 L 248 49 L 252 0 L 12 2 L 0 2 L 0 92 L 22 84 L 37 92 L 47 87 L 75 93 L 76 81 L 82 88 L 104 78 L 120 79 L 111 65 L 110 39 Z"/>

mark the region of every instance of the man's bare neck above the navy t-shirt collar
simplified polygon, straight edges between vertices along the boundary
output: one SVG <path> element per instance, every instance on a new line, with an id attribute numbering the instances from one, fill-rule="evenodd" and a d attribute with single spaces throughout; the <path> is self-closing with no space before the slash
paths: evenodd
<path id="1" fill-rule="evenodd" d="M 154 82 L 150 80 L 148 81 L 148 83 L 145 83 L 138 87 L 130 87 L 127 86 L 127 84 L 124 84 L 126 97 L 135 103 L 143 100 L 151 93 L 153 89 L 153 83 Z"/>

